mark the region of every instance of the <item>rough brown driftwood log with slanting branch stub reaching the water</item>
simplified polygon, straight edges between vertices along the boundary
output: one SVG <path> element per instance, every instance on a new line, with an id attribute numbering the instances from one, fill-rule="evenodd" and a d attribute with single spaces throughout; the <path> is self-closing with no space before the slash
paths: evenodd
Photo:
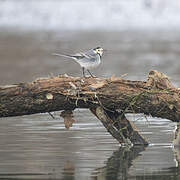
<path id="1" fill-rule="evenodd" d="M 148 144 L 126 113 L 180 119 L 180 90 L 163 73 L 147 81 L 60 75 L 0 87 L 0 117 L 88 108 L 120 143 Z"/>

